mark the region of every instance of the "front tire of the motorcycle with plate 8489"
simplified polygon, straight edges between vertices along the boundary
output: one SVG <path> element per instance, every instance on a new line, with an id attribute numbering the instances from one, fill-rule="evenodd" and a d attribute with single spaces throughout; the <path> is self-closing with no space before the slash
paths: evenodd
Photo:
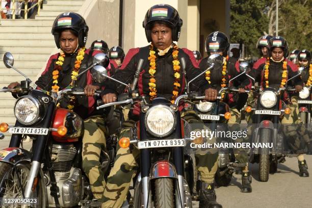
<path id="1" fill-rule="evenodd" d="M 262 143 L 270 141 L 271 129 L 262 128 L 259 137 L 262 138 Z M 269 180 L 270 171 L 270 151 L 267 148 L 260 149 L 259 151 L 259 180 L 267 182 Z"/>

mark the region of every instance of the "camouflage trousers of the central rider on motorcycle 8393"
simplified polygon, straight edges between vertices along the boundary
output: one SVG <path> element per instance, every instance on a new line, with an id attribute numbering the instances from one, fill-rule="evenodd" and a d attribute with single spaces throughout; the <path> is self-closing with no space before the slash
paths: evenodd
<path id="1" fill-rule="evenodd" d="M 194 111 L 184 111 L 181 113 L 189 123 L 202 123 Z M 119 138 L 132 137 L 134 121 L 123 123 Z M 197 169 L 200 173 L 201 180 L 212 183 L 218 167 L 218 150 L 207 154 L 207 151 L 196 152 Z M 131 180 L 139 168 L 139 150 L 132 145 L 128 148 L 119 148 L 115 159 L 115 164 L 107 180 L 103 196 L 105 202 L 102 208 L 116 208 L 123 204 Z"/>

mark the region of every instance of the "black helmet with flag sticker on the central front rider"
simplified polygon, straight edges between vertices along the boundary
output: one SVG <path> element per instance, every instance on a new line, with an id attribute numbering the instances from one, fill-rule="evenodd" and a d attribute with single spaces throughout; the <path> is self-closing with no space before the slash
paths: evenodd
<path id="1" fill-rule="evenodd" d="M 180 16 L 176 9 L 174 9 L 170 5 L 159 4 L 152 6 L 146 12 L 143 21 L 143 28 L 145 29 L 145 35 L 148 42 L 151 42 L 151 23 L 153 21 L 168 22 L 172 30 L 172 40 L 178 41 L 183 21 L 182 19 L 180 19 Z"/>

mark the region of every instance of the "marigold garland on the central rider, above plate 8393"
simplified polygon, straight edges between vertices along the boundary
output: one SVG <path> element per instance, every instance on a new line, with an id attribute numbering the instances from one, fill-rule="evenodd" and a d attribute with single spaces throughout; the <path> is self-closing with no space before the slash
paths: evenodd
<path id="1" fill-rule="evenodd" d="M 172 97 L 171 97 L 171 103 L 174 103 L 174 100 L 179 94 L 179 87 L 180 85 L 180 62 L 178 60 L 178 46 L 176 44 L 173 44 L 173 51 L 172 51 L 172 57 L 173 57 L 173 71 L 174 71 L 174 83 L 173 83 L 173 91 L 172 91 Z M 150 44 L 149 46 L 149 70 L 148 73 L 150 74 L 149 77 L 149 99 L 153 100 L 157 96 L 157 89 L 156 89 L 156 79 L 155 79 L 155 72 L 156 72 L 156 56 L 155 51 L 153 50 L 153 45 Z"/>

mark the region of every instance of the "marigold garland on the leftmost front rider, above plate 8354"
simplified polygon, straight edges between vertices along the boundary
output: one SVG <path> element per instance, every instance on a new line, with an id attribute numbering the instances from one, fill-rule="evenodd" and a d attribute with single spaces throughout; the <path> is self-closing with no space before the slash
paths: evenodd
<path id="1" fill-rule="evenodd" d="M 70 86 L 72 87 L 72 83 L 73 81 L 77 80 L 77 75 L 78 75 L 78 72 L 79 72 L 79 69 L 80 69 L 80 66 L 81 66 L 81 63 L 82 63 L 82 60 L 84 59 L 84 56 L 85 56 L 85 50 L 86 50 L 86 47 L 82 47 L 78 50 L 78 53 L 77 53 L 77 56 L 76 56 L 76 61 L 75 61 L 75 65 L 74 65 L 74 68 L 71 72 L 71 80 L 72 82 L 70 83 Z M 59 77 L 59 71 L 62 70 L 62 65 L 64 63 L 64 60 L 65 60 L 65 53 L 61 50 L 60 51 L 60 56 L 58 58 L 58 61 L 55 62 L 56 66 L 54 67 L 54 71 L 52 72 L 52 75 L 53 75 L 53 86 L 51 87 L 52 88 L 52 92 L 58 92 L 60 87 L 58 86 L 58 77 Z M 74 108 L 74 97 L 71 97 L 70 100 L 69 100 L 69 103 L 67 105 L 67 108 L 69 110 L 72 110 Z"/>

